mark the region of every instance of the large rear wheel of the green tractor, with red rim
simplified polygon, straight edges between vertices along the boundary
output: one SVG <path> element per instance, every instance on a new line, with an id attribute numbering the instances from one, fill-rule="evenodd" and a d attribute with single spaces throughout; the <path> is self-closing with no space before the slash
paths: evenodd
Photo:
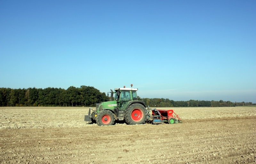
<path id="1" fill-rule="evenodd" d="M 129 108 L 125 111 L 124 120 L 129 125 L 144 124 L 147 119 L 146 116 L 146 108 L 139 103 L 135 103 L 130 105 Z"/>

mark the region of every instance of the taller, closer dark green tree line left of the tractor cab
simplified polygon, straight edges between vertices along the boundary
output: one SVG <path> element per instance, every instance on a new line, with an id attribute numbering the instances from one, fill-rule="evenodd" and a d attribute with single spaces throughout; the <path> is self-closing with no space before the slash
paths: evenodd
<path id="1" fill-rule="evenodd" d="M 92 86 L 62 88 L 0 88 L 0 106 L 95 106 L 108 101 L 106 93 Z"/>

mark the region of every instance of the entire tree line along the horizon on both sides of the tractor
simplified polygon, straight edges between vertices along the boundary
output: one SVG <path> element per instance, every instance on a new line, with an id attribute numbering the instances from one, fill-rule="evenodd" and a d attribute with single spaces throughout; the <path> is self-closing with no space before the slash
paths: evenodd
<path id="1" fill-rule="evenodd" d="M 0 88 L 0 107 L 4 106 L 95 106 L 96 103 L 109 101 L 106 93 L 92 86 L 70 86 L 62 88 L 23 88 L 11 89 Z M 231 101 L 173 101 L 169 99 L 140 98 L 145 104 L 154 107 L 236 107 L 256 105 L 252 102 L 231 102 Z"/>

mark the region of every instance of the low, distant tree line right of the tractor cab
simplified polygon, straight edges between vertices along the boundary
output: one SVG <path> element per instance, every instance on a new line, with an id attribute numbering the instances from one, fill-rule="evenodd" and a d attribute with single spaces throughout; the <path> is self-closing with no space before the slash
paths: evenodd
<path id="1" fill-rule="evenodd" d="M 154 107 L 236 107 L 236 106 L 250 106 L 256 105 L 252 102 L 231 102 L 231 101 L 198 101 L 198 100 L 189 100 L 189 101 L 173 101 L 164 98 L 140 98 L 139 100 L 144 101 L 146 106 L 149 105 L 150 108 Z"/>

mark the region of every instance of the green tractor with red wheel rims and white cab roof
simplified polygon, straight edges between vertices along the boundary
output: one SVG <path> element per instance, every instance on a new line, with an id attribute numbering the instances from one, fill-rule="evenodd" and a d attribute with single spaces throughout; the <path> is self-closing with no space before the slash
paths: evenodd
<path id="1" fill-rule="evenodd" d="M 131 85 L 132 86 L 132 85 Z M 111 90 L 110 101 L 98 103 L 96 110 L 89 108 L 88 115 L 84 116 L 84 121 L 101 125 L 113 125 L 115 120 L 124 120 L 127 124 L 143 124 L 148 115 L 146 105 L 143 101 L 138 101 L 138 89 L 115 88 Z M 113 97 L 113 94 L 115 96 Z M 115 98 L 113 100 L 113 98 Z M 92 114 L 91 114 L 92 110 Z"/>

